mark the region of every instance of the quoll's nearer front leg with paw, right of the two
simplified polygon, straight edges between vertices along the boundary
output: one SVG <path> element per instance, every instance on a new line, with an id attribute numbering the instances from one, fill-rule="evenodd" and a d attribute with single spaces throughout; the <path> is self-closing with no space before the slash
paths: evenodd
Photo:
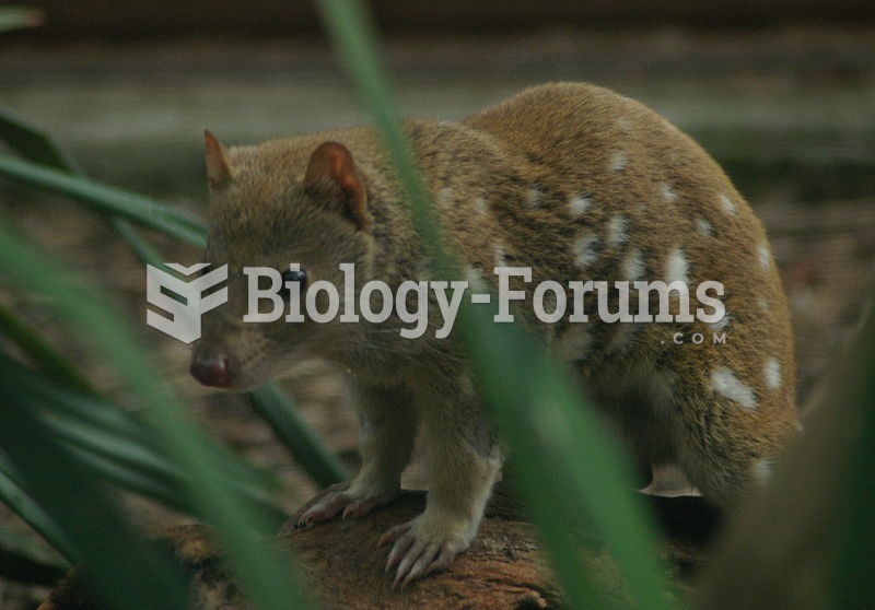
<path id="1" fill-rule="evenodd" d="M 418 396 L 430 436 L 431 484 L 425 511 L 389 529 L 386 570 L 397 566 L 395 585 L 450 567 L 477 535 L 501 459 L 479 414 L 475 396 L 446 387 Z"/>

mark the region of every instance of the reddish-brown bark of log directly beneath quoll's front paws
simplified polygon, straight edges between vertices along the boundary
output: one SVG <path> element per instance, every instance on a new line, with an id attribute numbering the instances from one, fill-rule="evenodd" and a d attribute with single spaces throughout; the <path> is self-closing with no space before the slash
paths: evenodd
<path id="1" fill-rule="evenodd" d="M 556 608 L 560 601 L 533 526 L 498 494 L 471 548 L 446 572 L 393 587 L 385 572 L 387 548 L 376 542 L 392 526 L 425 507 L 424 492 L 402 492 L 390 505 L 361 519 L 337 519 L 280 531 L 294 550 L 305 579 L 323 608 Z"/>

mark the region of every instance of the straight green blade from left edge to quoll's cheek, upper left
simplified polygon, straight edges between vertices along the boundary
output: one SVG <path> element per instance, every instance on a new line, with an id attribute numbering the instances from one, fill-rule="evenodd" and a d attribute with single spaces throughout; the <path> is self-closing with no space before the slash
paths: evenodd
<path id="1" fill-rule="evenodd" d="M 0 155 L 0 175 L 82 201 L 187 244 L 206 245 L 206 231 L 199 221 L 147 197 L 9 155 Z"/>

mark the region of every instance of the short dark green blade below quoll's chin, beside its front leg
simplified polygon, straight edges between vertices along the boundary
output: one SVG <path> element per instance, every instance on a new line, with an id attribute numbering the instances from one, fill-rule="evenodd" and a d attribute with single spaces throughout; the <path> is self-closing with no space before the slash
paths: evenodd
<path id="1" fill-rule="evenodd" d="M 291 399 L 280 388 L 267 385 L 247 394 L 246 398 L 319 486 L 327 488 L 349 478 L 343 465 L 301 419 Z"/>

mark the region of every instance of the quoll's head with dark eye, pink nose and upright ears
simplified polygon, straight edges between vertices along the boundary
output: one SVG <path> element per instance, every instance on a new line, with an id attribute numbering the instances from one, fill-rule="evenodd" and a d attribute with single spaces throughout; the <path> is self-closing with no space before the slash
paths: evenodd
<path id="1" fill-rule="evenodd" d="M 205 385 L 243 390 L 303 356 L 327 355 L 326 347 L 342 343 L 352 325 L 310 318 L 287 322 L 284 286 L 298 284 L 302 308 L 307 289 L 322 280 L 334 284 L 342 300 L 340 263 L 355 265 L 357 283 L 368 280 L 372 221 L 364 183 L 343 144 L 285 141 L 229 150 L 210 132 L 206 144 L 210 228 L 205 261 L 211 263 L 208 270 L 228 265 L 229 301 L 203 315 L 190 372 Z M 298 271 L 290 270 L 292 263 L 300 266 Z M 254 313 L 245 268 L 270 268 L 281 275 L 283 306 L 276 321 L 243 321 Z M 268 288 L 268 278 L 258 281 Z M 316 294 L 318 310 L 326 310 L 326 292 Z M 257 309 L 265 314 L 273 307 L 262 298 Z"/>

